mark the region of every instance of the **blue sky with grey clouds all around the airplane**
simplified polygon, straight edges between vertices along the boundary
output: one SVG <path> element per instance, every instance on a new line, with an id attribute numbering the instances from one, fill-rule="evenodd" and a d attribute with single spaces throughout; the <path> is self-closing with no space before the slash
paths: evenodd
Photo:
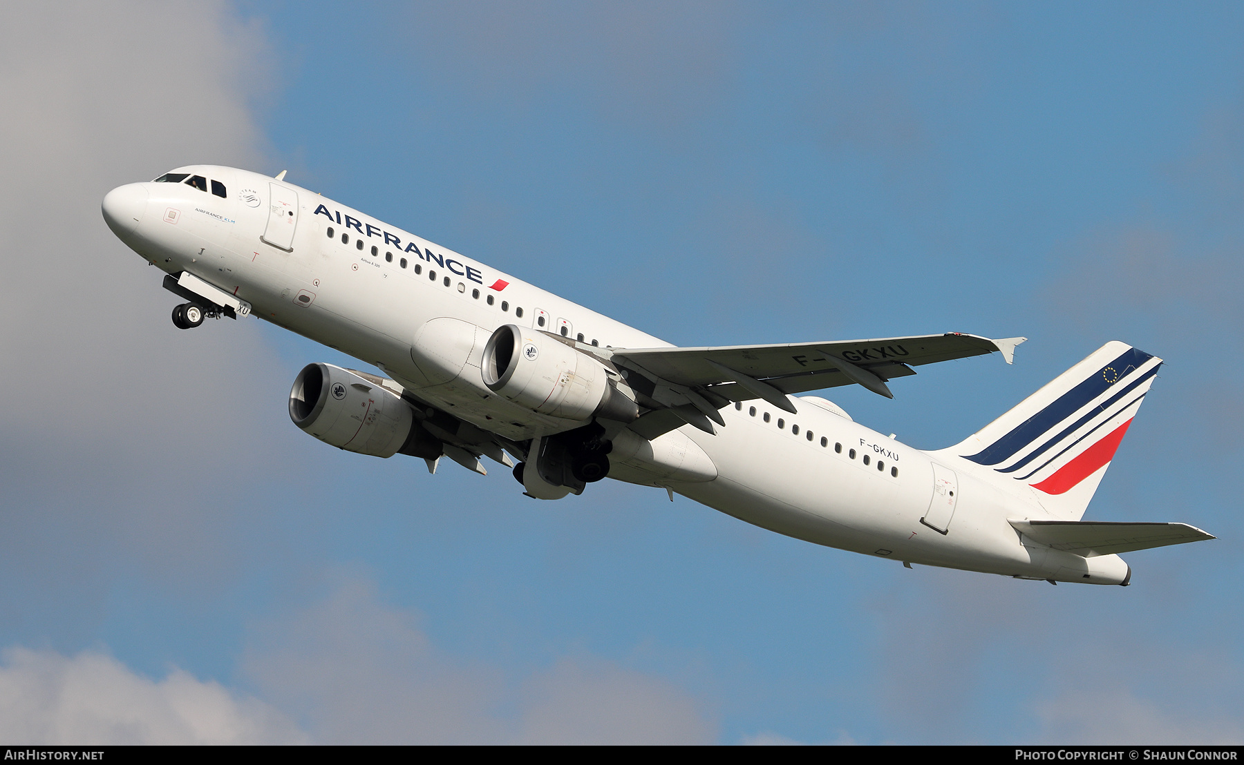
<path id="1" fill-rule="evenodd" d="M 1240 6 L 14 12 L 2 738 L 1244 738 Z M 1219 539 L 1051 587 L 332 450 L 285 396 L 357 363 L 259 320 L 174 329 L 100 219 L 198 161 L 287 169 L 678 344 L 1029 337 L 893 401 L 829 394 L 922 448 L 1132 343 L 1167 365 L 1087 517 Z"/>

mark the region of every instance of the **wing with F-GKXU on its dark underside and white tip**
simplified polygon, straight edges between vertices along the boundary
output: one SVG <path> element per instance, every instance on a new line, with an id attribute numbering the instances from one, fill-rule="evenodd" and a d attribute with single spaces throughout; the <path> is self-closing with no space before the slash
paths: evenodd
<path id="1" fill-rule="evenodd" d="M 672 411 L 644 415 L 632 426 L 641 435 L 683 421 L 712 432 L 708 420 L 724 425 L 718 409 L 730 401 L 764 399 L 795 412 L 789 394 L 858 384 L 893 399 L 886 382 L 914 375 L 912 366 L 1001 351 L 1008 364 L 1015 346 L 1028 338 L 990 340 L 947 333 L 875 340 L 835 340 L 780 345 L 725 345 L 718 348 L 618 348 L 611 360 L 638 373 L 628 375 L 633 389 Z M 593 349 L 595 350 L 595 349 Z M 652 415 L 661 415 L 653 417 Z M 677 415 L 672 417 L 671 415 Z M 658 428 L 646 427 L 657 425 Z M 672 427 L 666 427 L 677 422 Z M 661 430 L 659 432 L 664 432 Z M 657 432 L 657 435 L 659 435 Z M 654 437 L 654 436 L 648 436 Z"/>

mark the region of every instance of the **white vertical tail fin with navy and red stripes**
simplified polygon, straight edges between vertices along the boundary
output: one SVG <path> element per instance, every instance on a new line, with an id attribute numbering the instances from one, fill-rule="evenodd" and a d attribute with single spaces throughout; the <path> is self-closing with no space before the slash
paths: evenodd
<path id="1" fill-rule="evenodd" d="M 1051 513 L 1079 520 L 1161 365 L 1112 340 L 945 451 L 1033 487 Z"/>

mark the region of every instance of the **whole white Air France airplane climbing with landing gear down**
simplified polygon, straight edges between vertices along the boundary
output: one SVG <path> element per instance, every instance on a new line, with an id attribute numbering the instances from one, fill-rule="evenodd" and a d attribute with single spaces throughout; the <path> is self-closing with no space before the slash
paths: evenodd
<path id="1" fill-rule="evenodd" d="M 253 314 L 386 376 L 310 364 L 290 417 L 332 446 L 513 467 L 537 499 L 616 478 L 865 555 L 1050 582 L 1127 585 L 1118 553 L 1213 539 L 1182 523 L 1081 520 L 1162 360 L 1102 345 L 949 448 L 924 452 L 819 396 L 1024 338 L 674 348 L 275 179 L 178 168 L 103 199 L 167 272 L 173 323 Z M 891 396 L 892 397 L 892 396 Z M 510 456 L 518 459 L 515 463 Z"/>

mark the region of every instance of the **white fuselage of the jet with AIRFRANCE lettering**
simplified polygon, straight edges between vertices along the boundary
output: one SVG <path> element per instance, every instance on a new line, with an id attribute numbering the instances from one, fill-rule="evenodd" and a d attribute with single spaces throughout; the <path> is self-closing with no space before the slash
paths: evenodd
<path id="1" fill-rule="evenodd" d="M 292 184 L 220 166 L 179 171 L 220 181 L 228 195 L 183 183 L 116 190 L 114 199 L 128 200 L 127 212 L 109 214 L 106 202 L 106 217 L 136 252 L 245 301 L 260 318 L 374 364 L 419 399 L 511 441 L 573 423 L 491 395 L 480 351 L 498 327 L 539 328 L 600 346 L 669 345 Z M 274 205 L 277 194 L 291 204 Z M 289 242 L 272 229 L 280 215 L 290 219 Z M 422 353 L 412 354 L 414 346 Z M 1086 570 L 1095 579 L 1115 571 L 1125 577 L 1117 556 L 1085 559 L 1025 544 L 1008 518 L 1054 518 L 1026 486 L 1005 487 L 967 459 L 904 446 L 822 400 L 792 401 L 797 415 L 754 400 L 722 410 L 725 427 L 717 435 L 675 431 L 703 450 L 715 477 L 682 481 L 626 469 L 611 477 L 668 487 L 748 523 L 870 555 L 1034 579 L 1080 581 Z M 939 500 L 934 463 L 954 482 L 947 533 L 922 523 Z"/>

